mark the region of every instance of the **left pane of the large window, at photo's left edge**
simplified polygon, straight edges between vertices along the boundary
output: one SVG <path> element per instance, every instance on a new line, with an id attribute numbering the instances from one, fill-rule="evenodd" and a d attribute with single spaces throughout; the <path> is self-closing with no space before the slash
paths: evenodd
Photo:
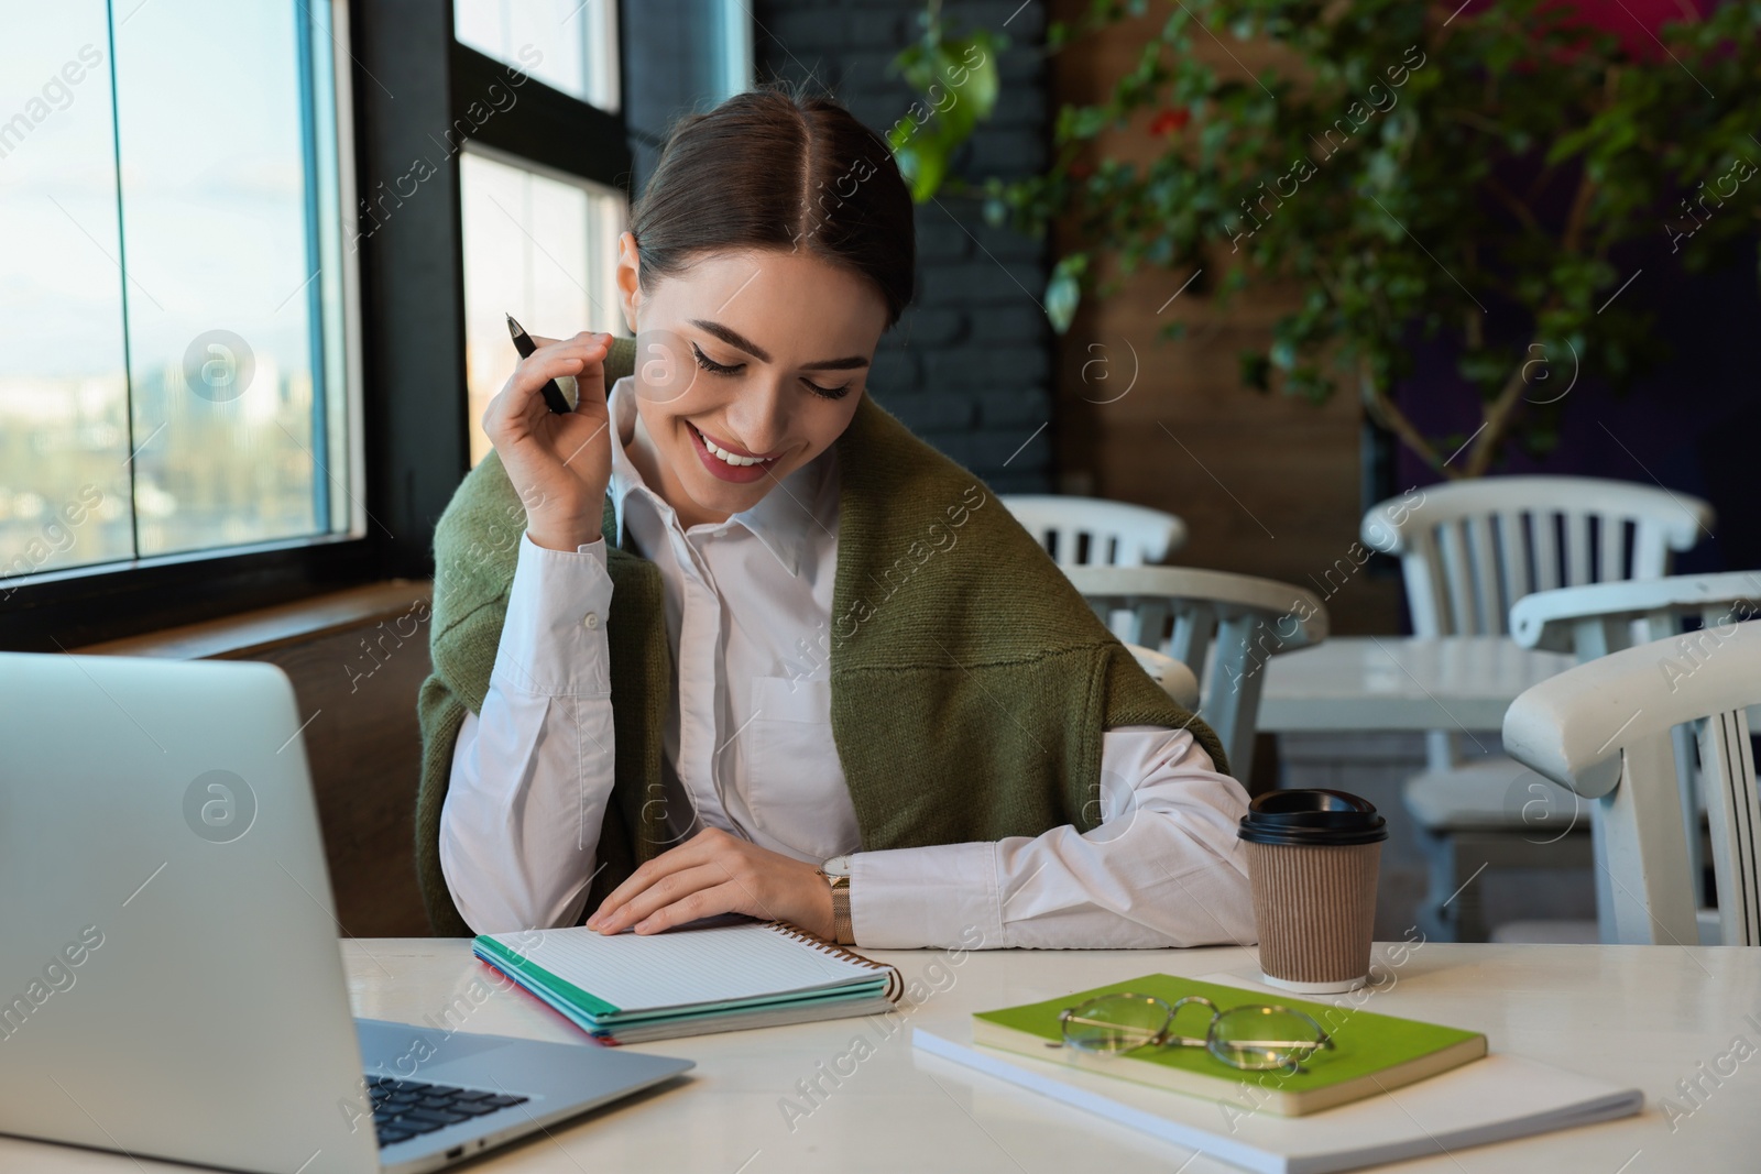
<path id="1" fill-rule="evenodd" d="M 0 18 L 0 577 L 134 553 L 102 0 Z"/>

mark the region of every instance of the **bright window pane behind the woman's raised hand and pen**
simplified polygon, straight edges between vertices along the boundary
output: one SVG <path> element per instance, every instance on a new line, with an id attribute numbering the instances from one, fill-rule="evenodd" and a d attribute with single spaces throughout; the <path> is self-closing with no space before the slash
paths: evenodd
<path id="1" fill-rule="evenodd" d="M 539 174 L 472 146 L 460 153 L 460 204 L 475 465 L 490 451 L 483 410 L 519 359 L 504 315 L 539 338 L 627 333 L 613 278 L 625 202 L 613 188 Z"/>

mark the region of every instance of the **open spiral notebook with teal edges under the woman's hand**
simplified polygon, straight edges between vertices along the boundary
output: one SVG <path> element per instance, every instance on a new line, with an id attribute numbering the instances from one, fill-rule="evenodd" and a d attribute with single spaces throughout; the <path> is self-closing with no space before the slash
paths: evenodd
<path id="1" fill-rule="evenodd" d="M 898 970 L 780 921 L 479 935 L 472 952 L 606 1044 L 891 1010 Z"/>

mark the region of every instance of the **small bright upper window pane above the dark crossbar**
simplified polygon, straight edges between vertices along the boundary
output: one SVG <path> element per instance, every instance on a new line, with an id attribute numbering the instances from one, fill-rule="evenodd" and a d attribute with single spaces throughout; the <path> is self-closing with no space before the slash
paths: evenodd
<path id="1" fill-rule="evenodd" d="M 618 109 L 616 0 L 456 0 L 460 44 L 544 84 Z"/>

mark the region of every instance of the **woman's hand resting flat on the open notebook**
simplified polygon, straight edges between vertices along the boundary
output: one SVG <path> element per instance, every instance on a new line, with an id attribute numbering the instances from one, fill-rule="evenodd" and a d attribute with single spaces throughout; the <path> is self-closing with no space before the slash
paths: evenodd
<path id="1" fill-rule="evenodd" d="M 660 933 L 715 914 L 787 921 L 833 940 L 831 885 L 815 864 L 704 827 L 611 891 L 588 929 Z"/>

